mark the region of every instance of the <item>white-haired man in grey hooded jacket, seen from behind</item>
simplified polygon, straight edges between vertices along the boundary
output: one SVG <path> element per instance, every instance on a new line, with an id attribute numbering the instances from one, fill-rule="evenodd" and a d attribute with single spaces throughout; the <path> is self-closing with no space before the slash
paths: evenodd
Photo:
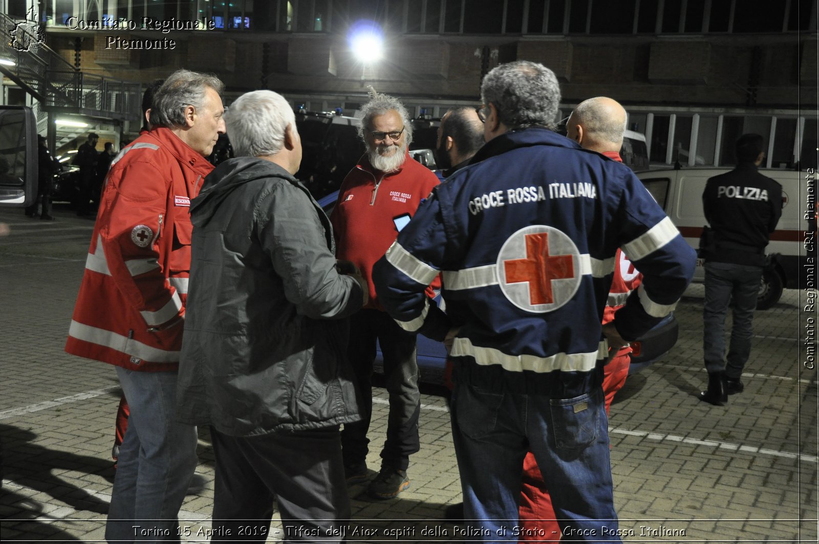
<path id="1" fill-rule="evenodd" d="M 265 542 L 274 499 L 286 540 L 337 540 L 350 516 L 338 429 L 360 419 L 341 319 L 368 291 L 358 270 L 339 274 L 330 222 L 293 177 L 284 98 L 247 93 L 225 122 L 238 158 L 191 202 L 179 417 L 210 425 L 213 540 Z"/>

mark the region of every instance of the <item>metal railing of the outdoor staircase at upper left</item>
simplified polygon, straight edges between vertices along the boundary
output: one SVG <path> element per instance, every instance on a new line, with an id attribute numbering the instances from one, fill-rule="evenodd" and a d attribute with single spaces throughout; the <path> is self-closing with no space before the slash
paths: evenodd
<path id="1" fill-rule="evenodd" d="M 59 108 L 78 114 L 115 116 L 121 120 L 140 118 L 140 84 L 75 70 L 59 53 L 38 42 L 37 25 L 28 22 L 31 25 L 25 39 L 31 47 L 28 51 L 20 51 L 12 47 L 15 39 L 20 42 L 21 30 L 14 32 L 14 29 L 26 21 L 0 13 L 0 72 L 25 88 L 46 110 Z M 3 63 L 3 60 L 11 61 L 13 65 Z"/>

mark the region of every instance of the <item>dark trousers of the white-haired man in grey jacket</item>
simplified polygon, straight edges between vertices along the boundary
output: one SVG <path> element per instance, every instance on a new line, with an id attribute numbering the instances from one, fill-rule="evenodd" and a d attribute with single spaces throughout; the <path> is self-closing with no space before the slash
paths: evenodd
<path id="1" fill-rule="evenodd" d="M 231 437 L 210 428 L 216 458 L 213 542 L 265 542 L 273 501 L 284 542 L 337 542 L 350 519 L 338 426 Z"/>

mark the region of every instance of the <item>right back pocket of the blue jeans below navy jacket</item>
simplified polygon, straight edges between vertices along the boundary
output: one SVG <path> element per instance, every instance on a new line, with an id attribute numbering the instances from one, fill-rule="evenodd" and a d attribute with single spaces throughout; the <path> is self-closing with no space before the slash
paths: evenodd
<path id="1" fill-rule="evenodd" d="M 563 450 L 580 450 L 597 439 L 600 398 L 595 393 L 549 401 L 554 445 Z"/>

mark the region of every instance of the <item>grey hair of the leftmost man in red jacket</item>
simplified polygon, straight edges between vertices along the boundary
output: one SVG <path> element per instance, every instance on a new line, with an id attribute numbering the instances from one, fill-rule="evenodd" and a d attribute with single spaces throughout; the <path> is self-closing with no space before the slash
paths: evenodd
<path id="1" fill-rule="evenodd" d="M 186 125 L 185 108 L 200 110 L 205 106 L 207 89 L 216 93 L 224 91 L 222 81 L 212 74 L 191 70 L 176 70 L 156 90 L 151 107 L 151 125 L 179 128 Z"/>

